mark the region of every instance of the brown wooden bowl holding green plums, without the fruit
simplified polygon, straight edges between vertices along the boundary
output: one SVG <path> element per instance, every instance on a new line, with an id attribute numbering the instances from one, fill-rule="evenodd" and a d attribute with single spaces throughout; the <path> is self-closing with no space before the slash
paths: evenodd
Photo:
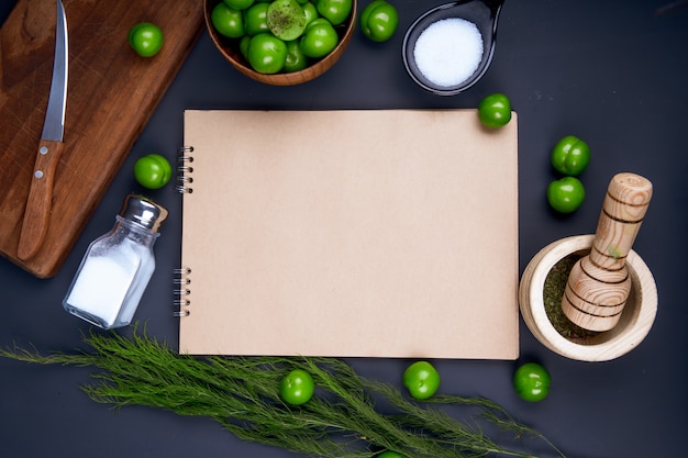
<path id="1" fill-rule="evenodd" d="M 310 81 L 318 78 L 342 57 L 346 46 L 354 35 L 354 29 L 356 26 L 356 0 L 353 0 L 352 12 L 349 18 L 341 25 L 337 25 L 335 30 L 340 35 L 340 43 L 336 47 L 328 54 L 325 57 L 314 62 L 309 67 L 300 71 L 293 71 L 290 74 L 274 74 L 266 75 L 255 71 L 244 56 L 238 51 L 238 40 L 231 40 L 220 35 L 212 25 L 210 15 L 212 9 L 220 3 L 221 0 L 203 0 L 203 13 L 206 16 L 206 27 L 210 34 L 210 38 L 215 44 L 220 53 L 232 64 L 238 71 L 252 78 L 256 81 L 264 82 L 273 86 L 295 86 Z"/>

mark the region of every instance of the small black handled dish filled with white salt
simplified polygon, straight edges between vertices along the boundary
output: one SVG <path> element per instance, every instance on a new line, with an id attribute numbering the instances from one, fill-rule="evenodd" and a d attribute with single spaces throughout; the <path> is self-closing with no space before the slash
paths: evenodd
<path id="1" fill-rule="evenodd" d="M 486 74 L 504 0 L 456 1 L 418 18 L 403 37 L 403 65 L 423 89 L 455 96 Z"/>

